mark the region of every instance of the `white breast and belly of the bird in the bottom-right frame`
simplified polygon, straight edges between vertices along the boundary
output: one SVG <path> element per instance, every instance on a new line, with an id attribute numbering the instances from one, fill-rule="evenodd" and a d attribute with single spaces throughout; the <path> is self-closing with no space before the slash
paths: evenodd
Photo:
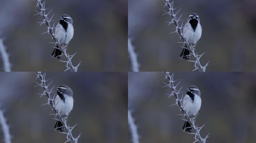
<path id="1" fill-rule="evenodd" d="M 182 101 L 182 105 L 191 116 L 198 113 L 199 109 L 201 108 L 201 102 L 201 98 L 198 95 L 195 95 L 194 101 L 192 101 L 189 95 L 185 95 Z"/>

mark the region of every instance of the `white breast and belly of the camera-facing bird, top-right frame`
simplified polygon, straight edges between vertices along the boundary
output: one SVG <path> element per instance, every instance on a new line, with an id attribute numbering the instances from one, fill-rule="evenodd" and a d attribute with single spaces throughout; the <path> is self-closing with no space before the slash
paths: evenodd
<path id="1" fill-rule="evenodd" d="M 196 42 L 201 38 L 202 35 L 202 27 L 198 22 L 196 30 L 191 27 L 190 23 L 187 22 L 185 27 L 183 28 L 183 34 L 186 39 L 188 39 L 189 43 L 196 44 Z"/>

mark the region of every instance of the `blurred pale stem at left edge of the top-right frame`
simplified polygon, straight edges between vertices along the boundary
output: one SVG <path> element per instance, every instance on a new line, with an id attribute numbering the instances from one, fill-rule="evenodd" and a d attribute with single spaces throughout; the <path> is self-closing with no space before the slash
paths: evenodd
<path id="1" fill-rule="evenodd" d="M 131 59 L 132 71 L 139 71 L 137 54 L 134 52 L 134 47 L 131 44 L 130 38 L 128 38 L 128 53 Z"/>

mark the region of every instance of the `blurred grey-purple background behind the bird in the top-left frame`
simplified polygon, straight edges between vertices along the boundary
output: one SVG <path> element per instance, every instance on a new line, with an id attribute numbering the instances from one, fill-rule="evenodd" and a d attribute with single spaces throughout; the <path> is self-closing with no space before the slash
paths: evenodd
<path id="1" fill-rule="evenodd" d="M 12 71 L 64 71 L 65 64 L 50 56 L 54 44 L 48 42 L 54 41 L 42 34 L 47 28 L 37 23 L 43 18 L 33 16 L 35 7 L 34 0 L 0 1 L 0 38 L 5 39 Z M 68 51 L 77 52 L 72 62 L 81 61 L 78 71 L 127 71 L 127 0 L 47 0 L 46 7 L 53 8 L 55 25 L 62 14 L 72 17 L 74 37 Z"/>

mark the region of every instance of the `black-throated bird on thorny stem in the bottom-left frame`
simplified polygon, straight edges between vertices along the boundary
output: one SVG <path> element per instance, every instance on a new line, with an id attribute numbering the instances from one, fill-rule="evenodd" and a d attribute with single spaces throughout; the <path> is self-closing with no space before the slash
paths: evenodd
<path id="1" fill-rule="evenodd" d="M 58 109 L 62 117 L 67 117 L 73 109 L 73 91 L 67 85 L 60 85 L 56 90 L 57 96 L 54 101 L 55 107 Z M 54 129 L 64 132 L 63 124 L 59 120 L 57 120 L 54 125 Z"/>

